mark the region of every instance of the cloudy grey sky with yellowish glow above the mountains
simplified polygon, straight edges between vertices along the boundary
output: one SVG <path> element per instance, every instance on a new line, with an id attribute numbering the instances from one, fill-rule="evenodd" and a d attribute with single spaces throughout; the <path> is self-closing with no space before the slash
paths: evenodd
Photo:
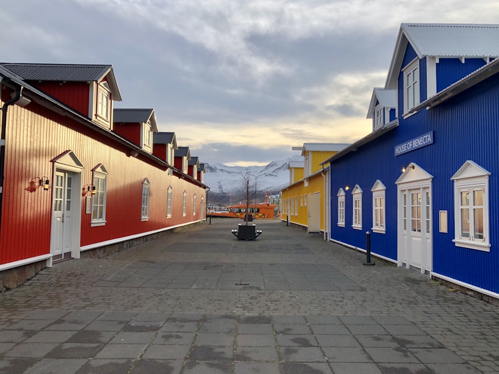
<path id="1" fill-rule="evenodd" d="M 154 108 L 200 162 L 248 166 L 367 135 L 401 22 L 498 20 L 497 0 L 15 0 L 0 48 L 112 64 L 116 107 Z"/>

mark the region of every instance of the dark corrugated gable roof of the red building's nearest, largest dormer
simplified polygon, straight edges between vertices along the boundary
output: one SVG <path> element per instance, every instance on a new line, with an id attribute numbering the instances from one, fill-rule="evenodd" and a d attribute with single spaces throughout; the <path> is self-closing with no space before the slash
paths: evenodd
<path id="1" fill-rule="evenodd" d="M 19 76 L 22 80 L 27 81 L 100 82 L 107 76 L 107 82 L 113 93 L 113 100 L 122 100 L 114 76 L 113 65 L 24 63 L 0 63 L 0 65 Z"/>

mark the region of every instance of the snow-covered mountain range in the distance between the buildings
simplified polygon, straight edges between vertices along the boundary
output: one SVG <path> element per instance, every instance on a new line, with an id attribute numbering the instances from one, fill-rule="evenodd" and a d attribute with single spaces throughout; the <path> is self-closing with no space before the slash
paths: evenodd
<path id="1" fill-rule="evenodd" d="M 209 198 L 211 201 L 229 203 L 229 197 L 236 201 L 243 192 L 242 177 L 251 174 L 256 178 L 257 198 L 261 200 L 264 191 L 271 194 L 289 184 L 289 161 L 303 160 L 301 156 L 294 155 L 282 160 L 272 161 L 265 166 L 227 166 L 223 164 L 205 163 L 205 184 L 210 187 Z M 255 179 L 250 177 L 250 184 L 254 191 Z M 226 201 L 227 199 L 227 201 Z"/>

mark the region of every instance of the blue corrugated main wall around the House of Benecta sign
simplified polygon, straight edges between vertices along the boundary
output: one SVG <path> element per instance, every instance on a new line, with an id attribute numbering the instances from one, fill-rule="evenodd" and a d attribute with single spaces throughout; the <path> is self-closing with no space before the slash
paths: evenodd
<path id="1" fill-rule="evenodd" d="M 400 84 L 399 80 L 399 84 Z M 399 90 L 399 92 L 401 92 Z M 402 96 L 402 95 L 400 95 Z M 399 97 L 400 100 L 400 97 Z M 386 190 L 386 234 L 372 234 L 372 250 L 396 259 L 397 187 L 401 167 L 418 164 L 434 176 L 432 189 L 433 271 L 499 293 L 499 74 L 430 110 L 422 110 L 398 128 L 377 138 L 331 165 L 331 237 L 365 247 L 372 227 L 372 193 L 379 179 Z M 434 131 L 434 144 L 395 157 L 394 146 Z M 456 247 L 454 239 L 454 182 L 451 177 L 472 160 L 491 172 L 489 180 L 490 252 Z M 359 184 L 363 189 L 363 228 L 352 229 L 352 196 L 346 192 L 346 227 L 338 227 L 339 187 Z M 439 232 L 439 210 L 448 212 L 448 233 Z"/>

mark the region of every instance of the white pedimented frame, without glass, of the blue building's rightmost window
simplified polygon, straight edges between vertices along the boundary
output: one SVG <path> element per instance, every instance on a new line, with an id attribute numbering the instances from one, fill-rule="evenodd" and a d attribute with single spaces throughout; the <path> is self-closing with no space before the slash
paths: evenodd
<path id="1" fill-rule="evenodd" d="M 478 249 L 490 252 L 490 230 L 489 230 L 489 177 L 491 173 L 477 165 L 473 161 L 466 161 L 464 165 L 451 178 L 454 181 L 454 239 L 457 247 Z M 483 204 L 474 204 L 475 191 L 482 191 Z M 461 193 L 469 192 L 469 205 L 461 204 Z M 462 210 L 468 209 L 469 235 L 463 235 Z M 476 238 L 472 233 L 475 227 L 475 211 L 482 209 L 483 238 Z"/>

